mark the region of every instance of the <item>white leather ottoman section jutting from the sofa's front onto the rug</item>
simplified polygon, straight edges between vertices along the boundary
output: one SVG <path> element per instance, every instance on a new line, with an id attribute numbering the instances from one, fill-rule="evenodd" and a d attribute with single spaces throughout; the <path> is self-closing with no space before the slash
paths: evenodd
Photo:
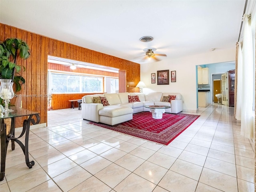
<path id="1" fill-rule="evenodd" d="M 132 120 L 133 109 L 130 107 L 109 105 L 99 110 L 99 120 L 101 123 L 115 125 L 128 120 Z"/>

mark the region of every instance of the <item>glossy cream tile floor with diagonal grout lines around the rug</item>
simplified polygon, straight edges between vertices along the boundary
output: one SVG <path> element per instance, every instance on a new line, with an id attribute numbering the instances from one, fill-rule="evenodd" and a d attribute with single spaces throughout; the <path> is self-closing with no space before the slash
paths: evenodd
<path id="1" fill-rule="evenodd" d="M 32 169 L 9 144 L 0 191 L 252 192 L 254 151 L 233 112 L 200 108 L 164 146 L 88 124 L 77 108 L 49 111 L 48 127 L 30 130 Z"/>

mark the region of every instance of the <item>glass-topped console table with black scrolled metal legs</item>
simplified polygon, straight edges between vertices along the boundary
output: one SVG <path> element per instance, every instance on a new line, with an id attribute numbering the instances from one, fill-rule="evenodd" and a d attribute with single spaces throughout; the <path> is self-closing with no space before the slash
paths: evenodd
<path id="1" fill-rule="evenodd" d="M 13 112 L 3 113 L 3 116 L 0 116 L 0 141 L 1 141 L 1 169 L 0 169 L 0 181 L 4 180 L 4 173 L 5 173 L 5 162 L 6 162 L 6 152 L 8 143 L 11 140 L 12 142 L 12 150 L 15 149 L 15 144 L 18 143 L 23 150 L 25 155 L 25 161 L 28 168 L 32 168 L 34 166 L 34 161 L 29 161 L 28 158 L 28 136 L 29 136 L 29 129 L 30 124 L 33 125 L 38 124 L 40 122 L 40 116 L 38 112 L 32 112 L 22 108 L 15 108 L 10 107 L 10 109 L 14 110 Z M 17 117 L 26 117 L 23 121 L 23 129 L 17 138 L 14 136 L 15 132 L 15 118 Z M 6 127 L 6 122 L 10 121 L 10 131 Z M 25 134 L 25 145 L 18 140 Z"/>

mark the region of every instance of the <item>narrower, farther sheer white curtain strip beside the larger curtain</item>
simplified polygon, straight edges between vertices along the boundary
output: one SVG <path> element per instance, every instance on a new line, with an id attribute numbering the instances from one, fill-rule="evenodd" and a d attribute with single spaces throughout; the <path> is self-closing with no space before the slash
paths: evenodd
<path id="1" fill-rule="evenodd" d="M 237 84 L 236 84 L 236 119 L 241 120 L 241 104 L 242 104 L 242 45 L 238 43 L 238 56 L 237 56 Z"/>

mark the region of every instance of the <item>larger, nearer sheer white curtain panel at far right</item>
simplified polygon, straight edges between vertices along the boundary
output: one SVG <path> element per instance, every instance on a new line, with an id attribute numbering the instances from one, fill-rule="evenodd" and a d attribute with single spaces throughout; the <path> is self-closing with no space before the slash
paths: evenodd
<path id="1" fill-rule="evenodd" d="M 253 43 L 249 15 L 244 14 L 244 38 L 242 47 L 242 100 L 241 100 L 241 135 L 253 138 Z"/>

